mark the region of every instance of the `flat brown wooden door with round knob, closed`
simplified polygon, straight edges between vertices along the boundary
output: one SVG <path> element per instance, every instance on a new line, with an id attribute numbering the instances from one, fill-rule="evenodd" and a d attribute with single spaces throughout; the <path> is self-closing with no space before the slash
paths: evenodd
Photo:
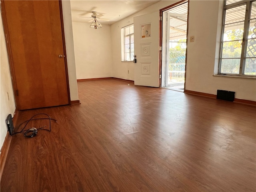
<path id="1" fill-rule="evenodd" d="M 58 0 L 2 1 L 19 110 L 70 102 L 61 13 Z"/>

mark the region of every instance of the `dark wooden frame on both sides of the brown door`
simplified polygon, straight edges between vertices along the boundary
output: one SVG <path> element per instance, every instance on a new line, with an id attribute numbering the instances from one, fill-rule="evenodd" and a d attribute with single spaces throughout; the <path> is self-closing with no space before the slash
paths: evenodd
<path id="1" fill-rule="evenodd" d="M 66 83 L 67 83 L 67 91 L 68 91 L 68 104 L 71 104 L 70 100 L 70 88 L 69 88 L 69 80 L 68 80 L 68 63 L 66 58 L 66 44 L 65 44 L 65 34 L 64 34 L 64 22 L 63 22 L 63 12 L 62 12 L 62 0 L 59 1 L 59 7 L 60 7 L 60 22 L 61 22 L 61 30 L 62 30 L 62 42 L 63 42 L 63 52 L 64 52 L 64 63 L 65 63 L 65 70 L 66 70 Z M 8 54 L 8 60 L 9 60 L 9 66 L 10 66 L 10 74 L 12 78 L 12 88 L 14 92 L 14 100 L 16 105 L 16 110 L 20 109 L 20 104 L 17 99 L 18 90 L 17 88 L 17 82 L 14 72 L 14 64 L 12 59 L 12 50 L 10 46 L 10 36 L 9 36 L 9 30 L 8 30 L 8 24 L 7 24 L 7 18 L 5 14 L 5 6 L 4 6 L 4 0 L 1 0 L 1 16 L 2 16 L 2 22 L 3 22 L 3 28 L 4 28 L 4 36 L 5 36 L 5 42 L 6 42 L 6 48 L 7 48 L 7 54 Z"/>

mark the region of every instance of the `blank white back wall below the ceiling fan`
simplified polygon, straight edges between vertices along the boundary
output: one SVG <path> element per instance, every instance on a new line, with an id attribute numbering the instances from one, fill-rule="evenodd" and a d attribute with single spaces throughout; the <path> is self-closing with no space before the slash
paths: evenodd
<path id="1" fill-rule="evenodd" d="M 112 77 L 110 26 L 73 22 L 77 79 Z"/>

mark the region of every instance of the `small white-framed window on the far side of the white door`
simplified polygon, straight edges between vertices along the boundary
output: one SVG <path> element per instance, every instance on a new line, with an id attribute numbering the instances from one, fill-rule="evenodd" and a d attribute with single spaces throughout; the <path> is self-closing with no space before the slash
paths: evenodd
<path id="1" fill-rule="evenodd" d="M 124 42 L 124 38 L 129 36 L 129 45 L 131 47 L 131 36 L 134 36 L 134 32 L 133 33 L 129 33 L 129 34 L 125 34 L 125 29 L 126 28 L 130 28 L 130 26 L 133 26 L 133 24 L 130 24 L 128 26 L 125 26 L 121 29 L 121 54 L 122 54 L 122 61 L 123 62 L 130 62 L 133 61 L 133 55 L 134 55 L 134 51 L 131 51 L 131 48 L 129 48 L 129 53 L 130 53 L 130 60 L 126 60 L 125 59 L 125 42 Z M 127 52 L 128 53 L 128 52 Z"/>

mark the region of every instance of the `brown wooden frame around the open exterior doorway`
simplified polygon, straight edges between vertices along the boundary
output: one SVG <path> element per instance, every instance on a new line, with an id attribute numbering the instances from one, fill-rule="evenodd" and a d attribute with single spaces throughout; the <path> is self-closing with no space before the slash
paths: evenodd
<path id="1" fill-rule="evenodd" d="M 163 23 L 163 19 L 162 19 L 163 15 L 164 15 L 164 12 L 166 12 L 167 10 L 169 10 L 171 8 L 179 6 L 180 4 L 183 4 L 185 2 L 188 2 L 188 16 L 189 16 L 189 0 L 181 0 L 179 2 L 176 2 L 176 3 L 172 4 L 172 5 L 169 5 L 169 6 L 165 7 L 165 8 L 160 9 L 160 18 L 161 18 L 160 19 L 160 46 L 162 47 L 162 50 L 163 50 L 163 47 L 165 47 L 165 46 L 163 46 L 163 25 L 165 25 L 165 24 Z M 188 22 L 187 22 L 187 40 L 186 40 L 186 44 L 188 44 Z M 159 55 L 159 58 L 160 58 L 160 74 L 161 75 L 162 75 L 162 50 L 159 52 L 159 54 L 160 54 Z M 184 92 L 186 90 L 186 64 L 187 64 L 187 47 L 186 47 L 186 58 L 185 58 Z M 162 78 L 159 79 L 159 81 L 160 81 L 159 85 L 160 85 L 160 87 L 162 87 Z"/>

